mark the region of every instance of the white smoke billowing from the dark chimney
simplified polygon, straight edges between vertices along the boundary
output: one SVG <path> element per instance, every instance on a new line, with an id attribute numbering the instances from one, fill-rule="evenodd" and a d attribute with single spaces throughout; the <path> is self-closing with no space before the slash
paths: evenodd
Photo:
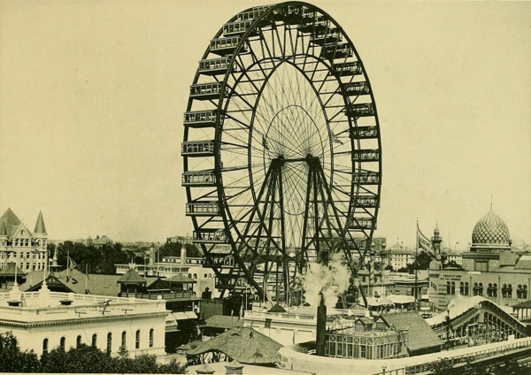
<path id="1" fill-rule="evenodd" d="M 350 283 L 350 271 L 342 263 L 340 253 L 330 256 L 328 265 L 312 262 L 303 276 L 306 302 L 318 306 L 320 293 L 327 308 L 334 308 L 337 297 L 347 290 Z"/>

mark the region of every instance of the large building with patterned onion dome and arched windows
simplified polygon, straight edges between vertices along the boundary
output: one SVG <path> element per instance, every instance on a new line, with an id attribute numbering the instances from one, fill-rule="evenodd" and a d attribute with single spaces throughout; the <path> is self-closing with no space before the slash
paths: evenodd
<path id="1" fill-rule="evenodd" d="M 472 245 L 462 258 L 462 269 L 430 264 L 428 293 L 436 310 L 458 295 L 481 295 L 502 306 L 529 300 L 531 256 L 512 252 L 509 228 L 492 207 L 473 226 Z"/>

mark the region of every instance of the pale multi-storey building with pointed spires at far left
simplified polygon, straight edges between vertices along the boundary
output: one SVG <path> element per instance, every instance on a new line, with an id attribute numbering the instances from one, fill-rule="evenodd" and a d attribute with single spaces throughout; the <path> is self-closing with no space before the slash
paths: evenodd
<path id="1" fill-rule="evenodd" d="M 0 271 L 8 264 L 16 264 L 13 269 L 23 272 L 43 271 L 46 264 L 48 233 L 42 212 L 39 212 L 35 230 L 29 228 L 7 209 L 0 217 Z"/>

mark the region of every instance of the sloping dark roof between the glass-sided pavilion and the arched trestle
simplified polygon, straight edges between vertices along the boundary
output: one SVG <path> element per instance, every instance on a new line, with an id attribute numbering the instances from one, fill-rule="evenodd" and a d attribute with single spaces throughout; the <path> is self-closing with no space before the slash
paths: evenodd
<path id="1" fill-rule="evenodd" d="M 412 352 L 428 348 L 440 348 L 443 341 L 432 331 L 417 311 L 381 314 L 381 318 L 397 329 L 409 330 L 408 349 Z"/>

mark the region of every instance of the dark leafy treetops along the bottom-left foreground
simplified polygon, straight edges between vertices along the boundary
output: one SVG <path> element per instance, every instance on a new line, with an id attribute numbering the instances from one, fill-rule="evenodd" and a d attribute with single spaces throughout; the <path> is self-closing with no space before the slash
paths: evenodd
<path id="1" fill-rule="evenodd" d="M 38 358 L 33 351 L 21 351 L 11 332 L 0 334 L 0 372 L 90 372 L 90 373 L 185 373 L 186 364 L 175 360 L 158 364 L 157 356 L 134 358 L 127 352 L 109 356 L 98 348 L 81 345 L 65 351 L 55 348 Z"/>

